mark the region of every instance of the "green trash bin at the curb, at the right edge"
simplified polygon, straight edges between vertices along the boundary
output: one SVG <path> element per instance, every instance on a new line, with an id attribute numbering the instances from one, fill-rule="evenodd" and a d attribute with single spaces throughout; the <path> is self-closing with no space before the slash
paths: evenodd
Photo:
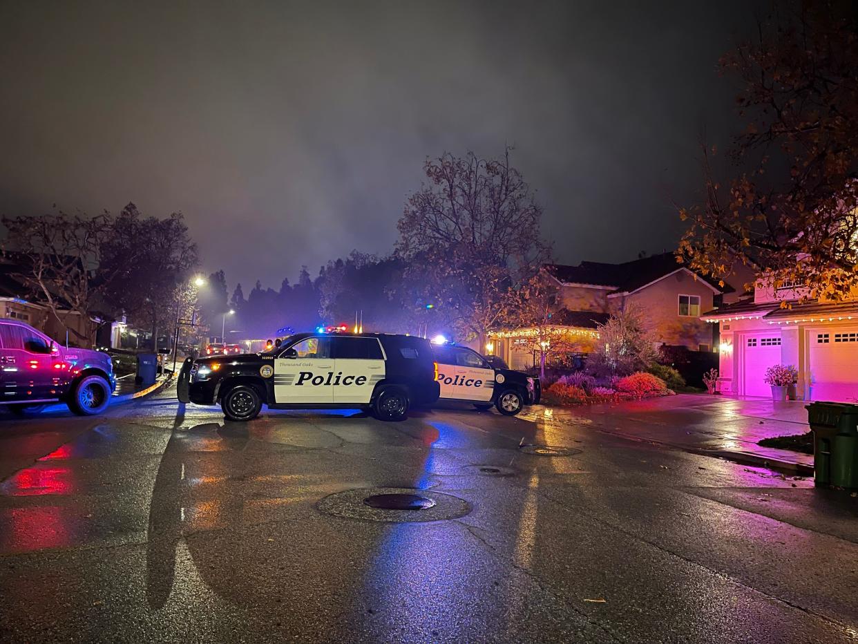
<path id="1" fill-rule="evenodd" d="M 811 403 L 813 480 L 817 485 L 858 489 L 858 404 Z"/>

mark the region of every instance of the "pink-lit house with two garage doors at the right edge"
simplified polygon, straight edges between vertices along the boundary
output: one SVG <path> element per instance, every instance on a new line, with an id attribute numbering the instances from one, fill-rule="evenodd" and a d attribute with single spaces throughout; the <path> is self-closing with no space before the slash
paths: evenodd
<path id="1" fill-rule="evenodd" d="M 722 393 L 770 397 L 771 365 L 798 370 L 803 400 L 858 400 L 858 301 L 800 303 L 791 287 L 758 280 L 753 295 L 704 313 L 720 325 Z"/>

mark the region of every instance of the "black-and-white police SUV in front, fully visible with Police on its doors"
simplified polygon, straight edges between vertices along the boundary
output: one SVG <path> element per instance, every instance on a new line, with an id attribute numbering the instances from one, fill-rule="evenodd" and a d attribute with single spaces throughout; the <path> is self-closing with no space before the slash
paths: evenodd
<path id="1" fill-rule="evenodd" d="M 184 403 L 220 404 L 228 420 L 262 410 L 349 408 L 399 420 L 438 399 L 432 346 L 385 333 L 297 333 L 257 354 L 188 358 L 178 377 Z"/>

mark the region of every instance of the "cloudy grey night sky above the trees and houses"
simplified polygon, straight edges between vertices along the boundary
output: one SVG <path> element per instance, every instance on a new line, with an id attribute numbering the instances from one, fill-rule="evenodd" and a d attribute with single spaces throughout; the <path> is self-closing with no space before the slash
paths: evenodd
<path id="1" fill-rule="evenodd" d="M 657 5 L 657 6 L 656 6 Z M 0 2 L 0 212 L 184 212 L 278 288 L 389 252 L 427 155 L 503 153 L 559 260 L 675 245 L 743 2 Z"/>

